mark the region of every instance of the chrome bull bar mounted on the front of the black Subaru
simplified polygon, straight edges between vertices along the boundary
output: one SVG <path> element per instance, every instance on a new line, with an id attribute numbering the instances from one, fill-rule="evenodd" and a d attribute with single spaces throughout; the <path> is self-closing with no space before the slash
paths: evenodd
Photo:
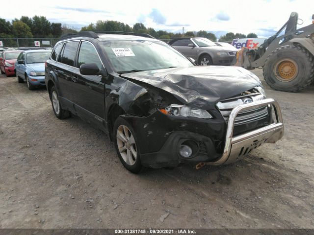
<path id="1" fill-rule="evenodd" d="M 235 117 L 241 111 L 272 105 L 276 115 L 277 123 L 272 123 L 259 129 L 233 136 Z M 235 107 L 229 116 L 226 141 L 222 156 L 215 162 L 201 163 L 210 165 L 230 164 L 244 158 L 251 150 L 261 146 L 263 143 L 274 143 L 284 135 L 284 122 L 279 104 L 274 99 L 268 98 L 260 101 L 242 104 Z M 200 166 L 202 166 L 200 165 Z M 197 167 L 198 168 L 198 167 Z"/>

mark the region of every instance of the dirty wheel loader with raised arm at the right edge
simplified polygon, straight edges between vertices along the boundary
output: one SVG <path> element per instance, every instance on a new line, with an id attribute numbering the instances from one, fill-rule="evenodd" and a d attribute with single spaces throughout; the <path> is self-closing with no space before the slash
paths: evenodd
<path id="1" fill-rule="evenodd" d="M 297 29 L 298 13 L 292 12 L 260 47 L 238 51 L 235 66 L 263 68 L 264 79 L 274 90 L 298 92 L 308 87 L 314 81 L 314 15 L 312 19 L 313 24 Z"/>

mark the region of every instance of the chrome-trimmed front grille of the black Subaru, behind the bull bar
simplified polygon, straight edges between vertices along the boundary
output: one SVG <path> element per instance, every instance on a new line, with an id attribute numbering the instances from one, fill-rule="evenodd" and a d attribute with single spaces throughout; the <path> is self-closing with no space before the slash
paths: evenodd
<path id="1" fill-rule="evenodd" d="M 257 92 L 255 89 L 245 92 L 243 94 L 236 95 L 229 99 L 222 100 L 217 103 L 217 107 L 228 123 L 229 116 L 233 108 L 238 105 L 249 103 L 257 100 L 263 99 L 263 95 Z M 235 125 L 245 124 L 251 121 L 256 121 L 268 116 L 268 106 L 262 106 L 258 108 L 253 108 L 250 110 L 245 110 L 240 113 L 235 118 Z"/>

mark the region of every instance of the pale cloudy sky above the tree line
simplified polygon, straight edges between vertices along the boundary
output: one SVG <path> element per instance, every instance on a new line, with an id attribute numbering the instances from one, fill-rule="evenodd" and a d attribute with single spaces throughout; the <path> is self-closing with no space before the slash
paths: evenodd
<path id="1" fill-rule="evenodd" d="M 132 26 L 168 32 L 213 32 L 218 38 L 227 32 L 269 37 L 287 22 L 292 11 L 303 24 L 312 23 L 314 0 L 15 0 L 16 7 L 1 10 L 1 18 L 45 16 L 53 23 L 79 30 L 98 20 L 120 21 Z M 301 23 L 301 21 L 300 21 Z"/>

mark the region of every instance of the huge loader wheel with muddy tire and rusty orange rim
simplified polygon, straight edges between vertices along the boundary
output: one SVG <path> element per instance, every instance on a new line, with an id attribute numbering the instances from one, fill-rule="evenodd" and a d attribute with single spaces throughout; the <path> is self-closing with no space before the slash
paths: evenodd
<path id="1" fill-rule="evenodd" d="M 286 74 L 279 71 L 282 63 L 292 65 L 292 69 L 288 69 Z M 314 57 L 301 46 L 279 47 L 268 55 L 263 68 L 263 76 L 268 86 L 274 90 L 298 92 L 310 86 L 314 80 Z"/>

